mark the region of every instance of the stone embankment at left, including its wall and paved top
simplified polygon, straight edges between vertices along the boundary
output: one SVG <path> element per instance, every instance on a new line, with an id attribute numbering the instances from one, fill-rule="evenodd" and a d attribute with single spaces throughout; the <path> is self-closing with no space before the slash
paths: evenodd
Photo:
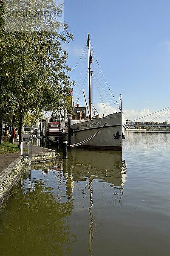
<path id="1" fill-rule="evenodd" d="M 27 144 L 26 144 L 27 145 Z M 25 146 L 24 143 L 24 147 Z M 40 163 L 55 160 L 57 153 L 55 150 L 31 146 L 31 163 Z M 0 155 L 0 206 L 8 196 L 12 187 L 17 183 L 23 169 L 28 165 L 28 158 L 23 158 L 20 153 L 10 153 Z"/>

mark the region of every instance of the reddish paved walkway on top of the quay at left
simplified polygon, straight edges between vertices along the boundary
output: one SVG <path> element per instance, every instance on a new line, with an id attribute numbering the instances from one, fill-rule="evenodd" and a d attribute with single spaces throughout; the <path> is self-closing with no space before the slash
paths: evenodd
<path id="1" fill-rule="evenodd" d="M 24 143 L 24 148 L 28 148 L 28 144 Z M 39 146 L 31 145 L 31 154 L 40 154 L 50 152 L 51 149 L 42 148 Z M 11 163 L 14 162 L 18 157 L 20 157 L 20 153 L 8 153 L 8 154 L 0 154 L 0 172 L 2 172 L 6 167 L 8 167 Z"/>

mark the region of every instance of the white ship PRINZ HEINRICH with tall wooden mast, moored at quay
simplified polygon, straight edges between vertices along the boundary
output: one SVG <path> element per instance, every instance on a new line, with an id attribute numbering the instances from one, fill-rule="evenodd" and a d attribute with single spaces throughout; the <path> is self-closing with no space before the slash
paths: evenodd
<path id="1" fill-rule="evenodd" d="M 92 118 L 91 111 L 91 49 L 88 34 L 88 73 L 89 73 L 89 120 L 72 121 L 71 126 L 65 126 L 63 130 L 63 140 L 68 140 L 70 146 L 81 146 L 86 148 L 101 148 L 111 150 L 122 150 L 122 140 L 125 139 L 125 116 L 122 113 L 122 97 L 120 97 L 120 112 L 112 113 L 102 118 Z M 75 108 L 74 108 L 75 109 Z M 79 106 L 76 107 L 80 112 Z M 82 112 L 82 113 L 85 113 Z M 79 113 L 81 117 L 82 113 Z M 85 120 L 85 118 L 84 118 Z M 70 135 L 68 135 L 70 134 Z M 71 139 L 70 139 L 71 138 Z"/>

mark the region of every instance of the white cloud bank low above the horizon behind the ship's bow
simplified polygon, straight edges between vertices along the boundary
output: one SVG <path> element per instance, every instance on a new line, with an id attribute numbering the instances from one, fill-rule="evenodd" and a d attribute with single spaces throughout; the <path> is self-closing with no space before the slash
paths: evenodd
<path id="1" fill-rule="evenodd" d="M 106 116 L 106 115 L 111 114 L 113 112 L 118 112 L 119 111 L 117 108 L 114 108 L 113 106 L 111 106 L 110 103 L 108 103 L 108 102 L 106 102 L 106 103 L 99 102 L 97 104 L 96 109 L 99 112 L 99 116 L 102 116 L 103 113 Z M 128 120 L 131 120 L 131 121 L 145 116 L 144 118 L 136 120 L 136 122 L 137 121 L 145 122 L 145 121 L 152 121 L 152 120 L 154 122 L 164 122 L 165 120 L 170 119 L 170 111 L 167 111 L 167 112 L 161 111 L 161 112 L 155 113 L 153 115 L 147 116 L 147 115 L 149 115 L 153 112 L 155 112 L 155 111 L 150 111 L 149 109 L 146 109 L 146 108 L 144 108 L 141 111 L 137 111 L 135 109 L 130 109 L 130 110 L 125 109 L 125 110 L 123 110 L 125 118 L 128 119 Z M 169 120 L 169 122 L 170 122 L 170 120 Z"/>

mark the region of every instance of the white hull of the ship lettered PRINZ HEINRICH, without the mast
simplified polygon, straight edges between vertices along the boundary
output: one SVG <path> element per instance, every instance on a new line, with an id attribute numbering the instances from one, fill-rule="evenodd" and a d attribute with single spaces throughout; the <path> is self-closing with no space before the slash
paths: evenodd
<path id="1" fill-rule="evenodd" d="M 71 125 L 71 128 L 73 129 L 73 136 L 71 137 L 72 145 L 87 140 L 99 131 L 91 140 L 79 146 L 122 150 L 122 134 L 124 135 L 125 131 L 125 117 L 122 112 L 113 113 L 91 121 L 77 121 L 76 124 Z M 120 136 L 115 139 L 117 132 L 119 132 Z M 115 136 L 113 134 L 115 134 Z M 68 127 L 64 128 L 63 140 L 68 140 Z"/>

